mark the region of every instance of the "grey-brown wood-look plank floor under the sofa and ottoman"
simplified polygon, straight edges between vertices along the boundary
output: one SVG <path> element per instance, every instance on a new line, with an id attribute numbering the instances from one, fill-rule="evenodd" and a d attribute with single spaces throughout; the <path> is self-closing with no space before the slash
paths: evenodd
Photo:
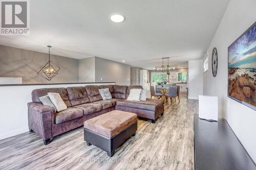
<path id="1" fill-rule="evenodd" d="M 181 94 L 179 104 L 165 104 L 152 124 L 139 119 L 136 136 L 113 157 L 83 141 L 83 128 L 59 135 L 49 145 L 34 132 L 0 140 L 0 169 L 194 169 L 193 114 L 198 102 Z"/>

